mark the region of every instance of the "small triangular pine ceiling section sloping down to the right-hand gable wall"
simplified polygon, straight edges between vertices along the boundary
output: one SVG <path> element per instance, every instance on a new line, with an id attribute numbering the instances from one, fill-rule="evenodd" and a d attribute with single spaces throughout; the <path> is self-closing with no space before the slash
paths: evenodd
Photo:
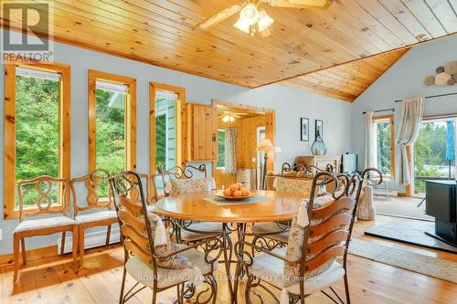
<path id="1" fill-rule="evenodd" d="M 401 48 L 335 67 L 324 68 L 283 80 L 280 84 L 352 102 L 408 50 L 409 48 Z"/>

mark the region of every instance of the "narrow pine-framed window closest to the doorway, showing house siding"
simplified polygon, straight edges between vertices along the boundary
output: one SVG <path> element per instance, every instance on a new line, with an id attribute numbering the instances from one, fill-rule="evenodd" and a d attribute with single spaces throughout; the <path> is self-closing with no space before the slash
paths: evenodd
<path id="1" fill-rule="evenodd" d="M 182 88 L 150 83 L 150 173 L 181 164 L 181 111 L 186 94 Z"/>

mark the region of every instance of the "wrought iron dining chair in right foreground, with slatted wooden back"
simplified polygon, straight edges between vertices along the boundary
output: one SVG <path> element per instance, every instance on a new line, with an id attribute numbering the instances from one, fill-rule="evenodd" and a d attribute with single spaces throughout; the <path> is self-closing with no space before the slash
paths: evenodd
<path id="1" fill-rule="evenodd" d="M 379 173 L 377 169 L 368 168 L 362 176 L 354 174 L 350 178 L 328 172 L 315 174 L 309 201 L 303 201 L 294 215 L 285 248 L 270 251 L 247 241 L 239 241 L 235 245 L 235 254 L 239 259 L 237 278 L 241 269 L 248 278 L 246 303 L 252 303 L 251 294 L 263 302 L 260 293 L 253 292 L 254 288 L 263 288 L 281 304 L 304 304 L 305 298 L 319 291 L 335 303 L 351 302 L 347 280 L 347 248 L 363 177 L 373 172 Z M 331 197 L 315 197 L 316 189 L 329 183 L 335 184 Z M 324 204 L 315 208 L 314 204 L 320 200 Z M 246 247 L 254 247 L 263 255 L 251 257 Z M 342 257 L 342 264 L 336 261 L 336 257 Z M 344 279 L 345 302 L 332 287 L 340 279 Z M 282 289 L 280 298 L 269 286 Z M 333 294 L 326 291 L 327 288 Z"/>

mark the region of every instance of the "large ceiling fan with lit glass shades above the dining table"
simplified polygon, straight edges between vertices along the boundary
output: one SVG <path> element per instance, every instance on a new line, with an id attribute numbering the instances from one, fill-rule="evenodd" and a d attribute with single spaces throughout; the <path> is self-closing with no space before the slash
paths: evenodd
<path id="1" fill-rule="evenodd" d="M 269 36 L 270 26 L 274 20 L 261 8 L 262 5 L 273 7 L 294 7 L 294 8 L 327 8 L 332 5 L 333 0 L 243 0 L 239 5 L 231 5 L 228 8 L 210 16 L 207 20 L 197 25 L 200 29 L 207 29 L 224 21 L 229 16 L 239 12 L 239 20 L 234 25 L 239 30 L 254 36 L 260 33 L 262 36 Z"/>

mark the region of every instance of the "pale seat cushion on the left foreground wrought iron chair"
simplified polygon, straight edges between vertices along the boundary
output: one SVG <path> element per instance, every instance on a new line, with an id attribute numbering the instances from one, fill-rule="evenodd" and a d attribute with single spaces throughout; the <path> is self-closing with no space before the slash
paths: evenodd
<path id="1" fill-rule="evenodd" d="M 173 268 L 157 268 L 158 288 L 166 288 L 178 283 L 192 280 L 198 275 L 194 267 L 201 270 L 201 274 L 205 275 L 211 272 L 211 266 L 205 261 L 205 254 L 197 249 L 189 249 L 185 251 L 186 257 L 192 264 L 192 268 L 173 269 Z M 218 268 L 218 262 L 214 263 L 215 269 Z M 153 288 L 154 271 L 152 266 L 145 264 L 138 257 L 130 257 L 125 264 L 125 268 L 129 275 L 136 279 L 141 284 Z"/>

